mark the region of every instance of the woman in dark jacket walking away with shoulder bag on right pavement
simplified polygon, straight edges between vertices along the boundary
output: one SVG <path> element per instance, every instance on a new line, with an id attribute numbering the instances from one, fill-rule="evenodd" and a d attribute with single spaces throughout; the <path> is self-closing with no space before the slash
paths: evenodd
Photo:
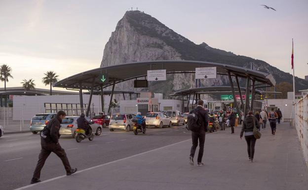
<path id="1" fill-rule="evenodd" d="M 247 142 L 247 152 L 248 152 L 248 159 L 251 162 L 254 162 L 254 154 L 255 154 L 255 145 L 257 139 L 253 134 L 254 123 L 258 129 L 260 129 L 260 122 L 257 118 L 253 115 L 250 111 L 246 118 L 244 119 L 243 126 L 241 133 L 239 135 L 240 139 L 243 137 L 243 133 L 245 132 L 245 140 Z"/>

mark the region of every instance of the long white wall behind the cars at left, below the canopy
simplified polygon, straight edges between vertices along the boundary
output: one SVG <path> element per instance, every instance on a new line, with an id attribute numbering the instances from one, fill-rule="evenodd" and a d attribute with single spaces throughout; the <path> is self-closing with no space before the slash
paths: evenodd
<path id="1" fill-rule="evenodd" d="M 88 104 L 90 95 L 83 95 L 83 104 Z M 110 96 L 105 96 L 105 111 L 108 111 Z M 79 95 L 52 95 L 52 96 L 14 96 L 13 120 L 31 120 L 35 114 L 45 113 L 44 103 L 79 104 Z M 93 95 L 91 103 L 94 103 L 94 112 L 101 112 L 101 99 Z"/>

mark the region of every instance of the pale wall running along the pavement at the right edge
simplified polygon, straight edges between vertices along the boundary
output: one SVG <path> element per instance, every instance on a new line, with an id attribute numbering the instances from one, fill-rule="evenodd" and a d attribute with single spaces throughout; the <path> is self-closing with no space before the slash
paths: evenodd
<path id="1" fill-rule="evenodd" d="M 308 95 L 295 105 L 295 127 L 308 166 Z"/>

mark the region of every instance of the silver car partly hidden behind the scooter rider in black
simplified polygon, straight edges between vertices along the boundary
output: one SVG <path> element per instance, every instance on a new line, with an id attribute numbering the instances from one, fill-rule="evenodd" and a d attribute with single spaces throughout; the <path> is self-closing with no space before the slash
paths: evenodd
<path id="1" fill-rule="evenodd" d="M 61 122 L 61 128 L 59 130 L 60 135 L 72 135 L 72 137 L 75 138 L 75 130 L 77 129 L 77 118 L 79 118 L 79 116 L 66 116 Z M 89 117 L 85 117 L 85 119 L 91 122 L 91 119 Z M 98 123 L 92 123 L 90 124 L 90 126 L 95 135 L 102 134 L 102 125 Z"/>

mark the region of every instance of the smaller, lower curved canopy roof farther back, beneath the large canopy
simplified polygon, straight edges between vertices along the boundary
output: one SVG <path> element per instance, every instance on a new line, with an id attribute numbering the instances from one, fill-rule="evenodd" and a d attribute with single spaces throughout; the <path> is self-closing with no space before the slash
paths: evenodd
<path id="1" fill-rule="evenodd" d="M 234 87 L 235 93 L 238 92 L 237 87 Z M 241 91 L 246 91 L 246 88 L 241 87 Z M 249 89 L 249 91 L 251 91 Z M 261 94 L 261 91 L 255 90 L 256 94 Z M 221 94 L 221 93 L 232 93 L 231 86 L 206 86 L 199 88 L 190 88 L 185 90 L 179 90 L 172 94 L 173 96 L 183 96 L 188 94 Z"/>

